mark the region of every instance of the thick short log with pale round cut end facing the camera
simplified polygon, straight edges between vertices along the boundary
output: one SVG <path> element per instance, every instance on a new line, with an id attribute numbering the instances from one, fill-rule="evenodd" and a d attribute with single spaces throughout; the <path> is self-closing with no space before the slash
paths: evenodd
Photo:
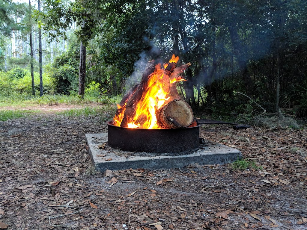
<path id="1" fill-rule="evenodd" d="M 159 128 L 188 127 L 193 122 L 193 111 L 183 100 L 173 100 L 157 110 Z"/>

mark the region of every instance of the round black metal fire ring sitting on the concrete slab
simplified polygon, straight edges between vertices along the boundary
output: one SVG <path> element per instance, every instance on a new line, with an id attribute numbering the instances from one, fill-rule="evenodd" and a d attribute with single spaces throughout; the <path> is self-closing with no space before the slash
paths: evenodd
<path id="1" fill-rule="evenodd" d="M 199 147 L 199 127 L 145 129 L 108 125 L 108 144 L 123 151 L 174 153 Z"/>

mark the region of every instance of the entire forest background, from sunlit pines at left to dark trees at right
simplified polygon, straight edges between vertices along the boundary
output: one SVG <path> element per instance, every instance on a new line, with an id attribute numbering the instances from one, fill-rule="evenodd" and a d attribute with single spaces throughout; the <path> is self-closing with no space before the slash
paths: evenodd
<path id="1" fill-rule="evenodd" d="M 116 104 L 175 54 L 197 114 L 307 117 L 305 1 L 0 0 L 0 27 L 0 105 Z"/>

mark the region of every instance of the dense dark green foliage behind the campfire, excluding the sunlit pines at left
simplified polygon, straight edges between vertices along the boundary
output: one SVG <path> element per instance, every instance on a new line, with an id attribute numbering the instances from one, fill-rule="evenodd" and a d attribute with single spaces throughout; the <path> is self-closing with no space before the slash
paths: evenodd
<path id="1" fill-rule="evenodd" d="M 77 91 L 82 42 L 87 92 L 97 97 L 124 93 L 146 61 L 174 53 L 192 63 L 178 91 L 195 111 L 307 116 L 305 1 L 44 3 L 36 16 L 52 39 L 77 25 L 78 42 L 52 64 L 56 93 Z"/>

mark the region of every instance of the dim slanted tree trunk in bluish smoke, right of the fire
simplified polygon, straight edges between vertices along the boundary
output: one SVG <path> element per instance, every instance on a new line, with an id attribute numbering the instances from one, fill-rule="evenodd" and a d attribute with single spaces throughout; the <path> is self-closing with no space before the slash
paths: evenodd
<path id="1" fill-rule="evenodd" d="M 231 43 L 234 47 L 234 54 L 239 65 L 239 70 L 241 71 L 242 74 L 242 79 L 244 82 L 246 93 L 247 95 L 252 95 L 254 91 L 254 83 L 251 79 L 251 75 L 247 70 L 246 57 L 243 52 L 242 44 L 240 43 L 236 24 L 234 20 L 231 19 L 227 22 L 227 24 L 230 33 Z"/>

